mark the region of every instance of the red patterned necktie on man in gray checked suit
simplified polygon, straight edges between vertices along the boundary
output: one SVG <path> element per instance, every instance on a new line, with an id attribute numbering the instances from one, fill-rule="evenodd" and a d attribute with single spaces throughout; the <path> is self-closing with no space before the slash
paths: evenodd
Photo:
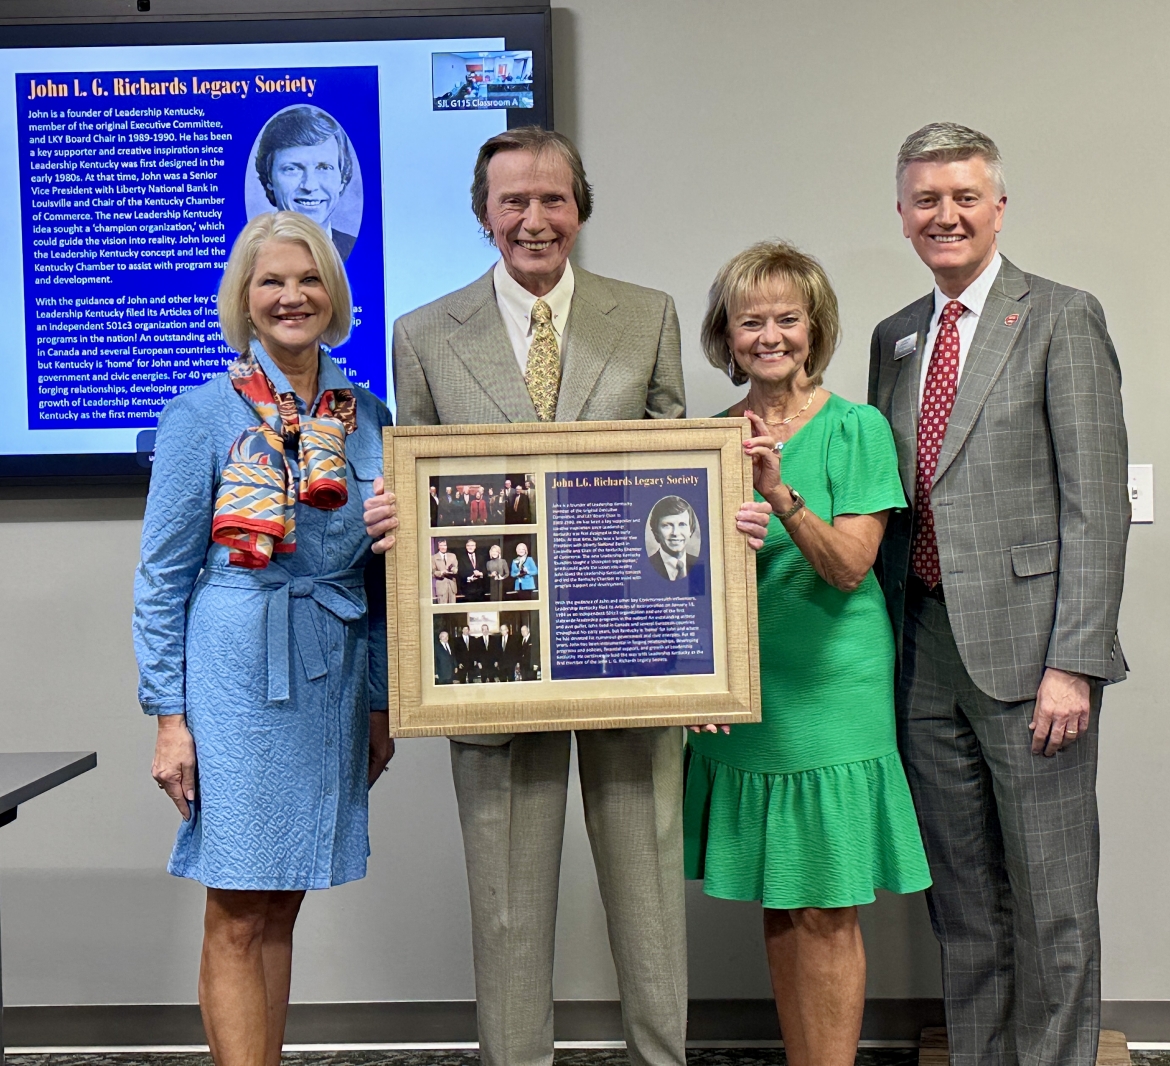
<path id="1" fill-rule="evenodd" d="M 955 390 L 958 386 L 957 323 L 965 310 L 957 300 L 943 308 L 918 411 L 918 469 L 914 479 L 911 566 L 928 589 L 934 589 L 943 579 L 938 541 L 935 537 L 935 513 L 930 509 L 930 486 L 935 480 L 935 470 L 938 469 L 938 453 L 955 406 Z"/>

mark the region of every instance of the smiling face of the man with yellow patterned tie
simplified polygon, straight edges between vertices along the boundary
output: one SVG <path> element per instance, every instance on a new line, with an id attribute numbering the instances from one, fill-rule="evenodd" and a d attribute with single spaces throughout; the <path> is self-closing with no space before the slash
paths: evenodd
<path id="1" fill-rule="evenodd" d="M 552 151 L 497 152 L 488 163 L 487 215 L 508 273 L 534 296 L 546 296 L 581 228 L 569 164 Z"/>

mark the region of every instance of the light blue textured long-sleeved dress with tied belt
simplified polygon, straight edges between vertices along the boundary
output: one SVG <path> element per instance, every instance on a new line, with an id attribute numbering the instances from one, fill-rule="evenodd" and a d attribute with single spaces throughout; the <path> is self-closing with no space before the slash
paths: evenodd
<path id="1" fill-rule="evenodd" d="M 167 869 L 214 888 L 328 888 L 364 876 L 370 854 L 369 713 L 387 706 L 385 571 L 362 504 L 381 472 L 390 412 L 325 355 L 318 387 L 357 397 L 349 501 L 336 511 L 298 502 L 296 550 L 263 570 L 229 565 L 211 541 L 222 467 L 255 412 L 222 374 L 159 420 L 135 579 L 139 702 L 187 716 L 198 796 Z"/>

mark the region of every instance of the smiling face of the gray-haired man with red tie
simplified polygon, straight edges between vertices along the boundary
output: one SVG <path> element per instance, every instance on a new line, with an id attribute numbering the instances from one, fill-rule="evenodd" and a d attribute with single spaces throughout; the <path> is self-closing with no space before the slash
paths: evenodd
<path id="1" fill-rule="evenodd" d="M 1006 204 L 982 156 L 907 166 L 897 200 L 902 235 L 951 298 L 994 257 Z"/>

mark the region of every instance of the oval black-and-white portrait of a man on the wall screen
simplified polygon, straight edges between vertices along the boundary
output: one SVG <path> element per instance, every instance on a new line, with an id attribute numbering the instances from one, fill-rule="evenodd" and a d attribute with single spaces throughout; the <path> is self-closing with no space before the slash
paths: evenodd
<path id="1" fill-rule="evenodd" d="M 295 104 L 264 123 L 245 174 L 248 218 L 266 211 L 307 215 L 349 259 L 362 228 L 363 185 L 357 153 L 337 119 Z"/>

